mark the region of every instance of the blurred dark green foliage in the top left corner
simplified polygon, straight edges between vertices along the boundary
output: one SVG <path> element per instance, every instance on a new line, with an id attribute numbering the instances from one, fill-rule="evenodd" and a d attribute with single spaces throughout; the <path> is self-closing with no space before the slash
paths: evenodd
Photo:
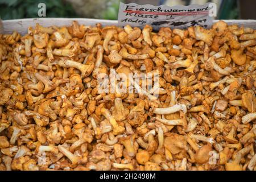
<path id="1" fill-rule="evenodd" d="M 78 17 L 71 4 L 61 0 L 0 0 L 1 19 L 38 18 L 38 4 L 46 4 L 46 17 Z"/>

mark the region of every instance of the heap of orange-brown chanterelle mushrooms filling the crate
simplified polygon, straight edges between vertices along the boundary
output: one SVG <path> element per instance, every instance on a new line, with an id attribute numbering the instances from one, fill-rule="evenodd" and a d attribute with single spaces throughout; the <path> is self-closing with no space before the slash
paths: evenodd
<path id="1" fill-rule="evenodd" d="M 223 21 L 2 34 L 0 169 L 256 170 L 255 45 Z M 111 68 L 159 74 L 159 97 L 99 93 Z"/>

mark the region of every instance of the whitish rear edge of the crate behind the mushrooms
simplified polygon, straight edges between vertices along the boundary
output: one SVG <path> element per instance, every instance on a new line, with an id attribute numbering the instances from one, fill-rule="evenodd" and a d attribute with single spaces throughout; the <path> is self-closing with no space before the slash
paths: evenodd
<path id="1" fill-rule="evenodd" d="M 88 18 L 27 18 L 27 19 L 14 19 L 2 20 L 2 29 L 4 34 L 10 34 L 13 31 L 18 31 L 24 35 L 27 33 L 28 27 L 34 27 L 36 23 L 44 27 L 48 26 L 70 26 L 73 20 L 77 20 L 80 24 L 95 26 L 96 23 L 101 23 L 102 26 L 117 25 L 117 20 L 104 20 L 104 19 L 88 19 Z M 213 20 L 217 22 L 218 20 Z M 224 20 L 228 24 L 238 24 L 239 26 L 250 27 L 256 29 L 256 20 Z M 1 26 L 1 23 L 0 23 Z"/>

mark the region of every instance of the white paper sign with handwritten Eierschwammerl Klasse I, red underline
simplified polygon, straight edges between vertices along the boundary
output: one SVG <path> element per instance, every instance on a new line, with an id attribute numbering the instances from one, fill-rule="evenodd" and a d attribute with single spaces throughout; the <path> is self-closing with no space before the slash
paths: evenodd
<path id="1" fill-rule="evenodd" d="M 132 27 L 144 27 L 149 24 L 154 30 L 158 30 L 160 27 L 187 28 L 197 25 L 209 28 L 213 20 L 209 16 L 209 11 L 212 9 L 209 5 L 210 3 L 170 7 L 121 2 L 118 12 L 118 26 L 130 24 Z"/>

